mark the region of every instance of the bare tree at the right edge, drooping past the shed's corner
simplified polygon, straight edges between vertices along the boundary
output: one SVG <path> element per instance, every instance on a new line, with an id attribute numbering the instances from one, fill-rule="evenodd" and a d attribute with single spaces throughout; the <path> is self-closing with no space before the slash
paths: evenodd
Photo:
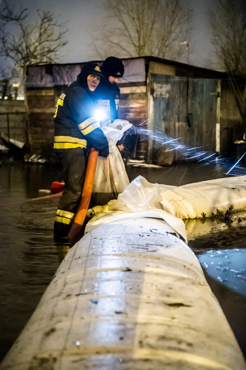
<path id="1" fill-rule="evenodd" d="M 210 12 L 210 24 L 219 67 L 229 74 L 230 88 L 246 128 L 246 1 L 218 0 L 216 9 Z"/>

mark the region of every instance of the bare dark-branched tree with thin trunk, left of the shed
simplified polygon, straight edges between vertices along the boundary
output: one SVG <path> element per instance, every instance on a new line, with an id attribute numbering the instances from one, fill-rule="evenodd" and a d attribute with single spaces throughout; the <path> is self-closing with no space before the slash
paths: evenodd
<path id="1" fill-rule="evenodd" d="M 29 115 L 25 82 L 30 65 L 55 63 L 66 45 L 66 29 L 49 11 L 37 10 L 31 23 L 28 9 L 16 10 L 3 1 L 0 10 L 0 56 L 12 61 L 22 80 L 24 100 Z M 28 128 L 27 128 L 27 131 Z"/>

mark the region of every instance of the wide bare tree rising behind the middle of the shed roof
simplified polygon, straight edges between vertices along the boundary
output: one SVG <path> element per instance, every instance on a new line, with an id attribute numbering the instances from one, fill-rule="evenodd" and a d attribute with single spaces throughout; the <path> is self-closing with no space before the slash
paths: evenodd
<path id="1" fill-rule="evenodd" d="M 152 55 L 173 60 L 185 53 L 189 8 L 180 0 L 105 0 L 102 24 L 93 31 L 101 58 Z"/>

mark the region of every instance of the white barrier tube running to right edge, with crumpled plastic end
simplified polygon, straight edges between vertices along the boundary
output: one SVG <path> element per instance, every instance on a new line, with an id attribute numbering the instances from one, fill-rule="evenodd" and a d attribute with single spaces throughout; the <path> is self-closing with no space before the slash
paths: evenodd
<path id="1" fill-rule="evenodd" d="M 134 179 L 108 203 L 109 210 L 142 212 L 163 209 L 181 219 L 211 217 L 217 210 L 226 212 L 246 208 L 246 176 L 197 182 L 184 186 L 151 184 L 142 176 Z"/>

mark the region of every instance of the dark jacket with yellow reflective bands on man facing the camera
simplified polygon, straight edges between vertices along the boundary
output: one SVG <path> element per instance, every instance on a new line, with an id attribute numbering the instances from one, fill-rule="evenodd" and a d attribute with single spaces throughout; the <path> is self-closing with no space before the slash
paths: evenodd
<path id="1" fill-rule="evenodd" d="M 78 75 L 66 94 L 58 98 L 54 114 L 54 151 L 64 152 L 72 148 L 90 147 L 99 151 L 99 155 L 106 157 L 109 146 L 100 127 L 100 122 L 93 116 L 97 104 L 88 88 L 80 83 Z"/>

